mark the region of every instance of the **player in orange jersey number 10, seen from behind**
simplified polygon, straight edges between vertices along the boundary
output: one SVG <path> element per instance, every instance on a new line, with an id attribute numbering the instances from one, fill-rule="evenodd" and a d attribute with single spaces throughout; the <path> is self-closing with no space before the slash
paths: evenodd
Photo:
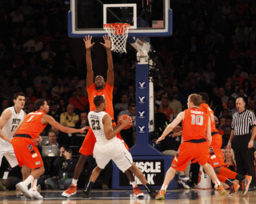
<path id="1" fill-rule="evenodd" d="M 202 98 L 198 94 L 190 94 L 187 100 L 188 109 L 179 113 L 177 118 L 166 127 L 166 130 L 156 141 L 156 143 L 162 141 L 178 123 L 182 122 L 183 142 L 178 147 L 170 169 L 166 172 L 162 188 L 155 197 L 157 200 L 165 199 L 167 186 L 174 178 L 176 171 L 184 171 L 187 163 L 192 159 L 194 159 L 193 162 L 198 162 L 204 168 L 206 174 L 214 182 L 214 187 L 218 190 L 218 193 L 220 195 L 226 194 L 226 190 L 219 182 L 213 167 L 207 163 L 209 145 L 211 143 L 210 118 L 206 113 L 199 110 L 201 102 Z"/>

